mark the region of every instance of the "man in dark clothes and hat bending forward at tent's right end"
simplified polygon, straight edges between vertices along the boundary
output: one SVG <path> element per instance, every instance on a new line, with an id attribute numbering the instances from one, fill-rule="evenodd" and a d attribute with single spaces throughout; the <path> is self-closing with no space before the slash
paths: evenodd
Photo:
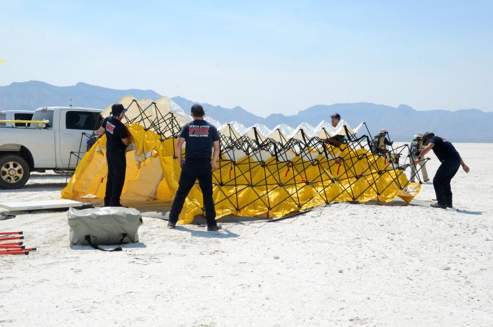
<path id="1" fill-rule="evenodd" d="M 444 138 L 426 132 L 423 135 L 423 143 L 425 147 L 421 151 L 421 154 L 414 159 L 415 165 L 418 165 L 430 150 L 433 150 L 437 158 L 442 162 L 437 173 L 435 173 L 435 177 L 433 177 L 433 187 L 437 196 L 437 203 L 432 203 L 430 206 L 442 209 L 446 209 L 447 207 L 452 208 L 450 181 L 456 175 L 460 166 L 462 166 L 462 169 L 466 173 L 469 172 L 469 167 L 464 163 L 464 160 L 462 160 L 459 152 L 453 147 L 452 143 Z"/>

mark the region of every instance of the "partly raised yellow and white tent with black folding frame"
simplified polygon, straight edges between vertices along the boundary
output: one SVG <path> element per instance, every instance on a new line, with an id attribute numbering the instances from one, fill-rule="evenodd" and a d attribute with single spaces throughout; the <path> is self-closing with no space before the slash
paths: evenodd
<path id="1" fill-rule="evenodd" d="M 124 122 L 131 136 L 122 201 L 129 206 L 171 202 L 181 172 L 176 138 L 190 118 L 167 97 L 138 101 L 126 96 L 119 103 L 128 109 Z M 103 116 L 109 111 L 110 106 Z M 361 140 L 350 138 L 339 147 L 324 142 L 337 134 L 355 135 L 361 125 L 351 129 L 342 121 L 334 129 L 326 123 L 317 128 L 302 124 L 294 130 L 281 126 L 268 132 L 260 127 L 245 130 L 229 123 L 218 128 L 221 155 L 219 170 L 213 173 L 217 219 L 230 214 L 283 217 L 335 202 L 390 202 L 397 196 L 410 202 L 420 191 L 420 184 L 409 183 L 402 167 L 388 160 L 390 156 L 372 154 Z M 105 144 L 103 136 L 84 155 L 62 191 L 63 198 L 104 197 Z M 195 215 L 204 214 L 202 207 L 197 183 L 179 223 L 191 223 Z"/>

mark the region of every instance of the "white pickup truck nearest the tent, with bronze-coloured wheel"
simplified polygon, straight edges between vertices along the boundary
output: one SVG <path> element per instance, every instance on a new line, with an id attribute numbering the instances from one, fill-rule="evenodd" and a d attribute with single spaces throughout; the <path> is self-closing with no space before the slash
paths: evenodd
<path id="1" fill-rule="evenodd" d="M 87 137 L 100 128 L 100 109 L 44 107 L 30 120 L 47 120 L 29 127 L 0 126 L 0 187 L 17 189 L 31 171 L 74 169 L 86 152 Z M 81 144 L 82 140 L 82 144 Z"/>

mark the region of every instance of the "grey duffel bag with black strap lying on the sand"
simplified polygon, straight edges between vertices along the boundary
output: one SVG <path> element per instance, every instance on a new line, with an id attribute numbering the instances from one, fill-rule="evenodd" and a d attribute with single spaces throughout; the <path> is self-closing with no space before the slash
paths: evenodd
<path id="1" fill-rule="evenodd" d="M 139 242 L 137 230 L 142 225 L 142 217 L 134 208 L 70 208 L 68 225 L 72 244 L 88 244 L 102 250 L 98 245 Z M 121 247 L 113 251 L 121 251 Z"/>

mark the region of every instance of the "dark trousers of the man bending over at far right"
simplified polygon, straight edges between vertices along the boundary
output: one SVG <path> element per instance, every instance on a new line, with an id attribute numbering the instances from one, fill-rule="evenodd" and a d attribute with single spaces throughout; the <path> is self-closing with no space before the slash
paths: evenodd
<path id="1" fill-rule="evenodd" d="M 438 204 L 447 205 L 449 207 L 452 206 L 450 181 L 452 180 L 452 177 L 456 175 L 460 166 L 461 158 L 453 157 L 445 159 L 438 168 L 435 177 L 433 177 L 433 187 L 435 189 L 435 195 L 437 195 Z"/>

